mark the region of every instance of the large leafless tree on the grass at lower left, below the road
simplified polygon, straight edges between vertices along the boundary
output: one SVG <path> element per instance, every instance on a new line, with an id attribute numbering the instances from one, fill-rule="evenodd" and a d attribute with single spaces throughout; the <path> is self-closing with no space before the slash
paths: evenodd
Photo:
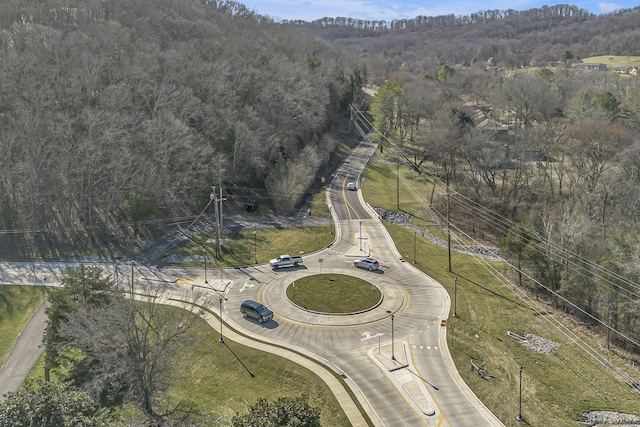
<path id="1" fill-rule="evenodd" d="M 82 358 L 71 375 L 95 399 L 124 397 L 135 403 L 152 425 L 176 416 L 182 403 L 166 395 L 171 375 L 181 363 L 180 349 L 197 316 L 186 307 L 160 304 L 159 291 L 144 301 L 115 298 L 98 307 L 83 306 L 62 326 L 66 349 Z"/>

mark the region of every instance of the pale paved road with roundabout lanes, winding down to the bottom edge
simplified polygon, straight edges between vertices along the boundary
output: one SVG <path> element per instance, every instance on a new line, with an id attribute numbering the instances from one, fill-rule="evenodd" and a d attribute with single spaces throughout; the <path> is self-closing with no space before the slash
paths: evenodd
<path id="1" fill-rule="evenodd" d="M 335 174 L 327 202 L 336 239 L 329 248 L 305 256 L 304 266 L 277 271 L 268 265 L 209 269 L 206 283 L 198 269 L 154 269 L 135 263 L 103 266 L 115 273 L 121 286 L 129 287 L 133 277 L 138 290 L 152 285 L 174 296 L 191 293 L 200 305 L 222 312 L 224 322 L 234 329 L 319 360 L 345 378 L 376 426 L 502 426 L 468 389 L 451 360 L 446 340 L 448 294 L 401 259 L 360 191 L 346 189 L 347 182 L 358 185 L 375 148 L 361 143 Z M 367 255 L 380 261 L 378 271 L 353 267 L 355 258 Z M 26 277 L 54 285 L 65 267 L 5 264 L 0 266 L 0 276 L 4 283 L 14 283 L 11 278 L 24 283 Z M 299 277 L 318 273 L 357 275 L 379 288 L 383 299 L 374 309 L 353 316 L 317 315 L 293 306 L 285 296 L 286 287 Z M 259 324 L 243 319 L 239 307 L 245 299 L 265 303 L 274 311 L 274 320 Z M 219 330 L 216 320 L 209 320 Z M 313 364 L 309 368 L 322 370 Z M 339 400 L 344 399 L 348 398 Z M 353 425 L 364 425 L 359 414 L 353 415 L 353 409 L 350 412 L 346 403 L 341 404 Z"/>

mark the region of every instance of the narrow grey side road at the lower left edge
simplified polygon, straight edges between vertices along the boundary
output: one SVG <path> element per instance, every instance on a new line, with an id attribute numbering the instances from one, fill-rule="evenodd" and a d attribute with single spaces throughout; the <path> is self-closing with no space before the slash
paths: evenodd
<path id="1" fill-rule="evenodd" d="M 47 322 L 45 310 L 48 306 L 49 302 L 45 300 L 34 313 L 11 350 L 7 363 L 0 370 L 0 400 L 4 400 L 5 394 L 10 391 L 18 391 L 42 354 L 42 333 Z"/>

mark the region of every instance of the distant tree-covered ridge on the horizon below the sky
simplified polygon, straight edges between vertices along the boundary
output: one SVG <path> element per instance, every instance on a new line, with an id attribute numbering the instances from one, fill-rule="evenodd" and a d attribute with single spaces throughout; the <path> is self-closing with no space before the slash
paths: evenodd
<path id="1" fill-rule="evenodd" d="M 528 66 L 538 58 L 558 58 L 570 49 L 576 58 L 640 54 L 640 7 L 594 15 L 558 4 L 524 11 L 484 10 L 470 15 L 417 16 L 365 21 L 323 18 L 291 21 L 300 31 L 331 40 L 356 55 L 385 55 L 386 67 L 400 64 L 429 72 L 433 63 L 470 65 L 494 58 L 498 66 Z M 388 77 L 388 76 L 385 76 Z"/>

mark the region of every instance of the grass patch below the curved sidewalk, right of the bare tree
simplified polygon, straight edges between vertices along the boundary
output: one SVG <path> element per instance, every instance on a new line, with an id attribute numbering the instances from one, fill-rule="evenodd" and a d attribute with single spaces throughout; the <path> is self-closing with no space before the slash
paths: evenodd
<path id="1" fill-rule="evenodd" d="M 218 342 L 204 321 L 193 327 L 193 343 L 184 349 L 176 366 L 171 395 L 184 400 L 212 424 L 230 425 L 236 413 L 244 414 L 259 398 L 307 395 L 320 409 L 323 426 L 348 426 L 346 415 L 313 372 L 273 354 L 237 344 Z"/>

